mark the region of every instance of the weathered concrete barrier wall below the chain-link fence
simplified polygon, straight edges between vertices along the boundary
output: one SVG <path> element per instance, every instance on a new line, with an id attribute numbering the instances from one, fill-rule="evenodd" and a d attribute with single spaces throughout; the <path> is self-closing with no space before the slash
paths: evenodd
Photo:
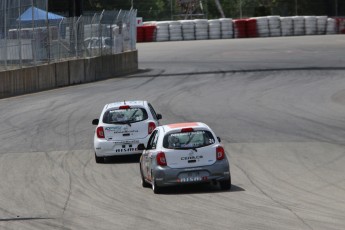
<path id="1" fill-rule="evenodd" d="M 135 73 L 138 52 L 69 60 L 0 72 L 0 98 Z"/>

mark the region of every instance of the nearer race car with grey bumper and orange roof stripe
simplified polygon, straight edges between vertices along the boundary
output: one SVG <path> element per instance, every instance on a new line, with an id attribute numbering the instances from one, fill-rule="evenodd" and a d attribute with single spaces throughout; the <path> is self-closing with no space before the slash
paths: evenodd
<path id="1" fill-rule="evenodd" d="M 157 127 L 140 158 L 143 187 L 160 193 L 163 187 L 195 183 L 219 183 L 231 188 L 230 166 L 223 146 L 204 123 L 189 122 Z"/>

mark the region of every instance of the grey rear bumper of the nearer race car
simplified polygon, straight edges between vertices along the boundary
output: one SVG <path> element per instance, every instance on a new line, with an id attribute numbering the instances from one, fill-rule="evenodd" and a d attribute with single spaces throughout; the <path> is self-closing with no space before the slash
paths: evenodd
<path id="1" fill-rule="evenodd" d="M 183 184 L 197 184 L 213 181 L 217 182 L 229 180 L 231 177 L 230 166 L 227 159 L 217 161 L 213 165 L 195 168 L 174 169 L 170 167 L 156 166 L 153 169 L 152 173 L 155 178 L 156 185 L 160 187 Z M 181 177 L 181 175 L 186 174 L 199 174 L 200 178 L 190 177 L 186 179 Z"/>

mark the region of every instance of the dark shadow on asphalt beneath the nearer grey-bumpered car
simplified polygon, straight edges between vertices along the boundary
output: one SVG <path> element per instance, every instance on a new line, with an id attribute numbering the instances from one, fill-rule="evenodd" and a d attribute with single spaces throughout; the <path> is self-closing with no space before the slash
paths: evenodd
<path id="1" fill-rule="evenodd" d="M 184 186 L 172 186 L 163 188 L 161 195 L 186 195 L 201 193 L 227 193 L 227 192 L 243 192 L 243 188 L 232 184 L 230 190 L 221 190 L 216 184 L 195 184 Z"/>

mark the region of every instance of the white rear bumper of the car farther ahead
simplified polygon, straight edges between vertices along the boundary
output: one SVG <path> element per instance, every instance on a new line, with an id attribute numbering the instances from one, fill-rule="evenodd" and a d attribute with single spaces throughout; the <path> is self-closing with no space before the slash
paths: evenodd
<path id="1" fill-rule="evenodd" d="M 143 139 L 127 140 L 127 141 L 107 141 L 94 138 L 94 150 L 98 157 L 123 156 L 140 154 L 142 151 L 138 150 L 139 144 L 147 145 L 149 135 Z"/>

